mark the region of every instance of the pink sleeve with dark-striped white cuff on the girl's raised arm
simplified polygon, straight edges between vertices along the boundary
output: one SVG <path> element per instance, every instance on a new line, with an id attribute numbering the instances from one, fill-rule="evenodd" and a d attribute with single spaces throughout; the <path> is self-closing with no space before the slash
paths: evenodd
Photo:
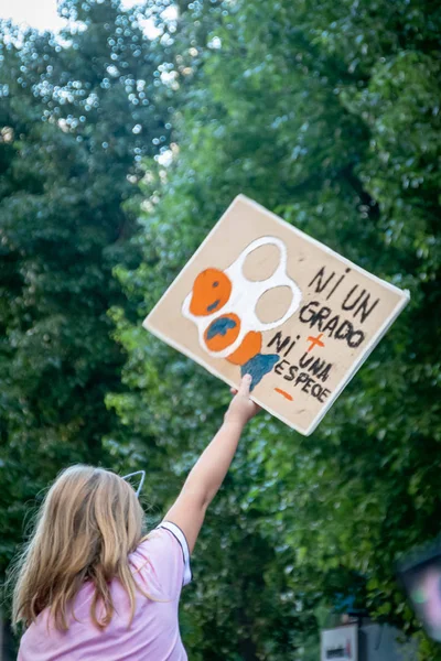
<path id="1" fill-rule="evenodd" d="M 183 585 L 192 579 L 187 541 L 182 530 L 170 521 L 162 521 L 138 546 L 131 560 L 146 584 L 154 583 L 165 598 L 178 598 Z"/>

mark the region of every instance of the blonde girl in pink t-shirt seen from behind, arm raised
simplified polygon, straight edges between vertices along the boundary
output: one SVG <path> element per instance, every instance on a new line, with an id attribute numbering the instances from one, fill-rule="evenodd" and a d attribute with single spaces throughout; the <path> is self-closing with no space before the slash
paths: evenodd
<path id="1" fill-rule="evenodd" d="M 62 473 L 19 560 L 19 661 L 185 661 L 178 607 L 205 512 L 258 411 L 243 379 L 224 424 L 162 523 L 144 535 L 133 488 L 92 466 Z"/>

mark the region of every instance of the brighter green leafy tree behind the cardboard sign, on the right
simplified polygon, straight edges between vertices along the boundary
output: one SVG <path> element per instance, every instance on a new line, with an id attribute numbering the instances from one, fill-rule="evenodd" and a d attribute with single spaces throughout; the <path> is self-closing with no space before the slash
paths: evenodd
<path id="1" fill-rule="evenodd" d="M 190 603 L 203 596 L 204 616 L 189 615 L 185 640 L 206 658 L 219 649 L 232 659 L 301 658 L 311 609 L 319 602 L 336 607 L 337 595 L 417 631 L 394 562 L 439 532 L 440 14 L 417 0 L 323 0 L 313 12 L 305 2 L 192 7 L 175 44 L 179 148 L 169 167 L 146 164 L 137 239 L 143 263 L 118 270 L 139 321 L 114 311 L 128 354 L 127 392 L 108 402 L 140 446 L 144 435 L 155 438 L 158 452 L 149 453 L 182 479 L 190 459 L 176 455 L 193 457 L 219 419 L 222 387 L 146 336 L 139 322 L 236 193 L 408 288 L 412 301 L 312 437 L 268 416 L 247 434 L 203 534 Z M 159 500 L 166 494 L 163 486 Z M 230 521 L 227 534 L 220 516 Z M 208 617 L 212 632 L 218 625 L 213 574 L 205 572 L 212 557 L 226 582 L 237 567 L 244 579 L 251 571 L 248 533 L 268 556 L 262 583 L 249 581 L 251 599 L 239 590 L 251 625 L 227 630 L 227 653 L 214 635 L 201 642 L 195 622 Z M 216 583 L 216 595 L 223 587 Z M 230 622 L 243 603 L 235 598 L 223 603 Z M 277 629 L 269 605 L 288 613 Z M 244 638 L 251 638 L 250 657 L 240 651 Z M 422 658 L 439 653 L 423 641 Z"/>

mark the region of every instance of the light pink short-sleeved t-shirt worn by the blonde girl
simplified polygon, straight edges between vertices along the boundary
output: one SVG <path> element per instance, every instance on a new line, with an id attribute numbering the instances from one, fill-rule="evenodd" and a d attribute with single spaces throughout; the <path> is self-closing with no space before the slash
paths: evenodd
<path id="1" fill-rule="evenodd" d="M 85 583 L 74 603 L 76 619 L 68 616 L 68 630 L 47 630 L 49 614 L 43 610 L 21 639 L 18 661 L 186 661 L 178 620 L 181 589 L 191 581 L 184 534 L 163 522 L 129 560 L 136 581 L 152 597 L 137 592 L 130 628 L 129 598 L 121 584 L 111 584 L 115 614 L 100 631 L 90 619 L 94 588 Z"/>

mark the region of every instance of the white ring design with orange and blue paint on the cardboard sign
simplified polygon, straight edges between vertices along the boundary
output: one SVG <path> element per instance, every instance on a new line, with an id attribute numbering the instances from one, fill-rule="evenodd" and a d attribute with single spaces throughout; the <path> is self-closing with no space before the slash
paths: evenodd
<path id="1" fill-rule="evenodd" d="M 265 246 L 276 246 L 280 261 L 270 278 L 254 282 L 244 273 L 247 257 Z M 281 318 L 263 323 L 256 314 L 260 296 L 272 289 L 287 286 L 291 303 Z M 262 350 L 262 333 L 284 324 L 299 308 L 302 294 L 287 273 L 287 248 L 276 237 L 252 241 L 224 271 L 208 268 L 197 274 L 182 306 L 183 315 L 197 327 L 201 347 L 212 357 L 225 359 L 251 375 L 251 390 L 279 361 L 277 353 Z"/>

